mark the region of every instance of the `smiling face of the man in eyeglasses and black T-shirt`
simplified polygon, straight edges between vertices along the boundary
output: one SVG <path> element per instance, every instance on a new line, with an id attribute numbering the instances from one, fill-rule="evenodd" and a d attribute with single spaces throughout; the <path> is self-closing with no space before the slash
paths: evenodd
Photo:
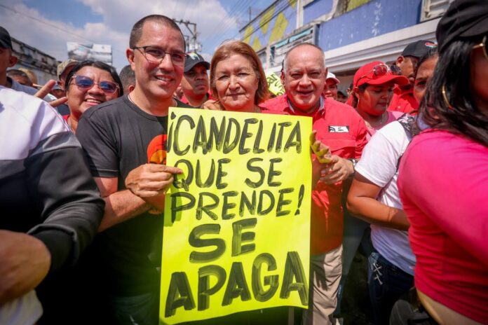
<path id="1" fill-rule="evenodd" d="M 137 47 L 152 46 L 165 53 L 184 53 L 182 34 L 161 22 L 147 21 Z M 149 62 L 141 50 L 127 50 L 128 60 L 135 71 L 136 88 L 151 99 L 170 99 L 182 81 L 183 65 L 173 64 L 170 55 L 160 63 Z"/>

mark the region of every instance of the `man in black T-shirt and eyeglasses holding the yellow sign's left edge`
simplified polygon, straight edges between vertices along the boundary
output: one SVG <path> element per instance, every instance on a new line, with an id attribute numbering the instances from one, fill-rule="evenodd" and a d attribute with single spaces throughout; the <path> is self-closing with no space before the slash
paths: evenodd
<path id="1" fill-rule="evenodd" d="M 168 109 L 182 80 L 185 42 L 163 15 L 135 23 L 126 55 L 135 71 L 128 95 L 92 107 L 76 136 L 107 202 L 95 243 L 102 286 L 116 324 L 158 324 L 165 189 L 181 170 L 165 165 Z"/>

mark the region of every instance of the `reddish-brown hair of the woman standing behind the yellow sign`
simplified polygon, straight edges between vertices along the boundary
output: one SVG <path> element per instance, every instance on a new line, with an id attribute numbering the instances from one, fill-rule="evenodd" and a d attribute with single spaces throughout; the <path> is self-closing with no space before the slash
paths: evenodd
<path id="1" fill-rule="evenodd" d="M 257 56 L 255 50 L 253 50 L 247 43 L 241 41 L 229 41 L 222 44 L 215 51 L 212 62 L 210 63 L 210 83 L 212 88 L 212 93 L 217 96 L 217 87 L 215 86 L 215 67 L 217 63 L 222 60 L 231 57 L 231 55 L 240 54 L 243 57 L 248 58 L 251 63 L 252 69 L 254 69 L 257 74 L 257 90 L 255 95 L 255 104 L 264 102 L 269 98 L 268 81 L 266 80 L 266 74 L 264 74 L 264 69 L 261 64 L 261 60 Z"/>

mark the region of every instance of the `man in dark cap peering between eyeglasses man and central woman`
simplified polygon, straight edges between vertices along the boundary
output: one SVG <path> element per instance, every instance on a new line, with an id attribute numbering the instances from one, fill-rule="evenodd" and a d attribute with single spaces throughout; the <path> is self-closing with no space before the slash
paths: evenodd
<path id="1" fill-rule="evenodd" d="M 184 63 L 184 75 L 182 79 L 182 102 L 192 107 L 200 108 L 208 101 L 209 82 L 207 71 L 210 63 L 198 53 L 189 53 Z"/>

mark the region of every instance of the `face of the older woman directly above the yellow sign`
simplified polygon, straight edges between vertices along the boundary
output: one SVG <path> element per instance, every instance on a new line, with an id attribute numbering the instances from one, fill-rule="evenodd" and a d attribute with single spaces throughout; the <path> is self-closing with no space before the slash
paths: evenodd
<path id="1" fill-rule="evenodd" d="M 215 66 L 215 88 L 226 111 L 253 111 L 259 78 L 247 57 L 233 54 Z"/>

